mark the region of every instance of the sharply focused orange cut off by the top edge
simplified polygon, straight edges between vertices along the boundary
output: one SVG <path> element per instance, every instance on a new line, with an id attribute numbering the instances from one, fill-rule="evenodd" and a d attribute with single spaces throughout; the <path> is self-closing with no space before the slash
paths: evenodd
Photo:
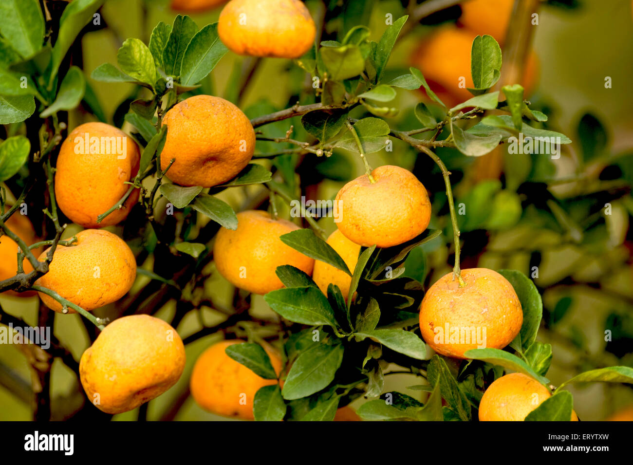
<path id="1" fill-rule="evenodd" d="M 218 34 L 240 55 L 299 58 L 312 47 L 316 27 L 299 0 L 231 0 L 220 13 Z"/>

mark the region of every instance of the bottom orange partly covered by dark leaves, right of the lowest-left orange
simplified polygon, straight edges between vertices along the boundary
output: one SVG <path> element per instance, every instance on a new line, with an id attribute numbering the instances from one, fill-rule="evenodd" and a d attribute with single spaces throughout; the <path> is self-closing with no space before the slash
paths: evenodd
<path id="1" fill-rule="evenodd" d="M 277 384 L 277 380 L 265 380 L 250 368 L 236 362 L 225 352 L 232 344 L 243 340 L 225 340 L 211 345 L 196 360 L 191 372 L 191 395 L 203 409 L 216 415 L 254 419 L 255 393 L 264 386 Z M 281 359 L 265 347 L 270 363 L 279 376 Z"/>

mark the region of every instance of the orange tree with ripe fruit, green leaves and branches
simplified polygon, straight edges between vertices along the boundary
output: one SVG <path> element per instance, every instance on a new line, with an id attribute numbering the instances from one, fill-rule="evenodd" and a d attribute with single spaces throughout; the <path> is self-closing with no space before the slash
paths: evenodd
<path id="1" fill-rule="evenodd" d="M 478 418 L 482 396 L 489 401 L 479 419 L 513 419 L 501 407 L 495 410 L 507 398 L 516 402 L 515 416 L 521 412 L 516 419 L 570 420 L 575 412 L 563 390 L 568 383 L 633 382 L 632 368 L 610 366 L 554 386 L 546 377 L 551 345 L 537 340 L 543 307 L 532 279 L 517 270 L 461 270 L 468 234 L 462 237 L 460 227 L 500 230 L 517 223 L 522 211 L 529 215 L 531 205 L 541 210 L 537 216 L 546 227 L 565 228 L 579 242 L 582 228 L 574 216 L 594 213 L 603 199 L 585 197 L 582 211 L 572 209 L 572 201 L 554 199 L 536 182 L 549 169 L 536 154 L 534 169 L 508 173 L 505 189 L 498 181 L 473 187 L 460 203 L 466 213 L 458 212 L 448 161 L 463 173 L 462 160 L 486 156 L 517 138 L 540 140 L 546 153 L 572 142 L 548 128 L 548 116 L 525 100 L 522 85 L 499 82 L 503 56 L 494 37 L 474 36 L 472 97 L 447 106 L 417 68 L 394 75 L 387 66 L 399 35 L 433 13 L 431 2 L 413 10 L 415 19 L 387 14 L 379 39 L 371 40 L 363 1 L 342 9 L 322 6 L 315 21 L 296 0 L 232 0 L 219 24 L 199 28 L 189 16 L 177 15 L 173 24 L 156 24 L 147 43 L 125 40 L 116 65 L 92 70 L 94 80 L 138 86 L 123 108 L 130 134 L 104 124 L 68 128 L 66 112 L 80 104 L 104 120 L 77 66 L 77 35 L 99 22 L 103 3 L 75 0 L 61 9 L 44 1 L 41 9 L 37 0 L 21 0 L 0 9 L 0 226 L 3 242 L 13 241 L 9 256 L 17 257 L 15 273 L 3 276 L 0 290 L 38 291 L 58 311 L 41 306 L 41 325 L 53 318 L 63 325 L 65 314 L 73 312 L 94 325 L 88 332 L 94 344 L 81 366 L 60 340 L 53 337 L 46 349 L 41 344 L 48 358 L 37 368 L 45 388 L 37 394 L 35 418 L 51 413 L 50 357 L 61 357 L 81 375 L 89 396 L 86 416 L 101 414 L 94 407 L 111 414 L 165 392 L 182 374 L 182 342 L 216 332 L 248 340 L 205 352 L 191 380 L 194 399 L 210 411 L 257 420 L 328 421 L 337 409 L 365 397 L 358 408 L 363 419 L 470 421 Z M 291 95 L 288 108 L 251 111 L 249 121 L 231 102 L 205 95 L 208 76 L 229 49 L 294 59 L 291 72 L 309 83 L 308 92 Z M 392 119 L 399 111 L 398 89 L 423 92 L 404 121 Z M 599 122 L 592 118 L 581 121 L 589 149 L 600 140 Z M 341 237 L 326 242 L 315 209 L 296 207 L 296 199 L 305 194 L 311 171 L 329 170 L 326 177 L 340 179 L 341 150 L 358 154 L 365 175 L 330 204 L 331 214 L 340 201 Z M 391 165 L 372 169 L 368 155 L 383 150 L 411 152 L 415 174 Z M 329 160 L 334 163 L 325 168 Z M 245 209 L 268 213 L 236 214 L 218 197 L 247 185 L 261 185 L 268 195 L 249 198 Z M 13 199 L 9 191 L 16 193 Z M 113 192 L 117 198 L 104 206 Z M 280 218 L 282 204 L 294 206 L 289 218 Z M 11 220 L 27 212 L 44 240 L 35 242 L 13 227 Z M 297 217 L 306 228 L 288 221 Z M 93 229 L 62 240 L 66 218 Z M 120 222 L 131 249 L 118 238 L 106 244 L 94 230 Z M 593 226 L 586 221 L 583 228 Z M 429 289 L 423 247 L 437 240 L 446 256 L 452 254 L 453 270 Z M 47 249 L 38 259 L 41 247 Z M 151 269 L 141 266 L 148 257 Z M 130 261 L 150 279 L 120 299 L 134 279 L 134 273 L 125 275 L 134 268 Z M 222 323 L 180 342 L 173 328 L 185 315 L 218 307 L 204 288 L 214 261 L 212 268 L 235 286 L 234 306 L 223 309 Z M 324 266 L 329 268 L 315 283 L 313 270 Z M 251 315 L 250 292 L 265 294 L 278 317 Z M 90 312 L 113 301 L 115 311 L 103 318 Z M 176 302 L 170 325 L 133 319 L 170 301 Z M 24 326 L 4 310 L 0 322 Z M 128 348 L 123 355 L 121 347 Z M 419 378 L 409 395 L 384 392 L 385 375 L 394 372 L 387 367 L 394 364 L 399 373 Z M 118 383 L 105 382 L 113 376 Z M 504 380 L 503 389 L 496 380 Z M 489 386 L 495 392 L 486 396 Z"/>

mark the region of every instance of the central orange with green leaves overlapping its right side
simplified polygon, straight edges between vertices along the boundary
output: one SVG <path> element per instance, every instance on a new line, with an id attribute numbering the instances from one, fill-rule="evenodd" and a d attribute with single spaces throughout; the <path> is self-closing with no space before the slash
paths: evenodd
<path id="1" fill-rule="evenodd" d="M 277 266 L 292 265 L 312 274 L 314 260 L 285 245 L 279 237 L 300 229 L 287 220 L 273 220 L 265 211 L 237 214 L 235 231 L 220 228 L 213 245 L 215 266 L 232 285 L 254 294 L 284 287 Z"/>

